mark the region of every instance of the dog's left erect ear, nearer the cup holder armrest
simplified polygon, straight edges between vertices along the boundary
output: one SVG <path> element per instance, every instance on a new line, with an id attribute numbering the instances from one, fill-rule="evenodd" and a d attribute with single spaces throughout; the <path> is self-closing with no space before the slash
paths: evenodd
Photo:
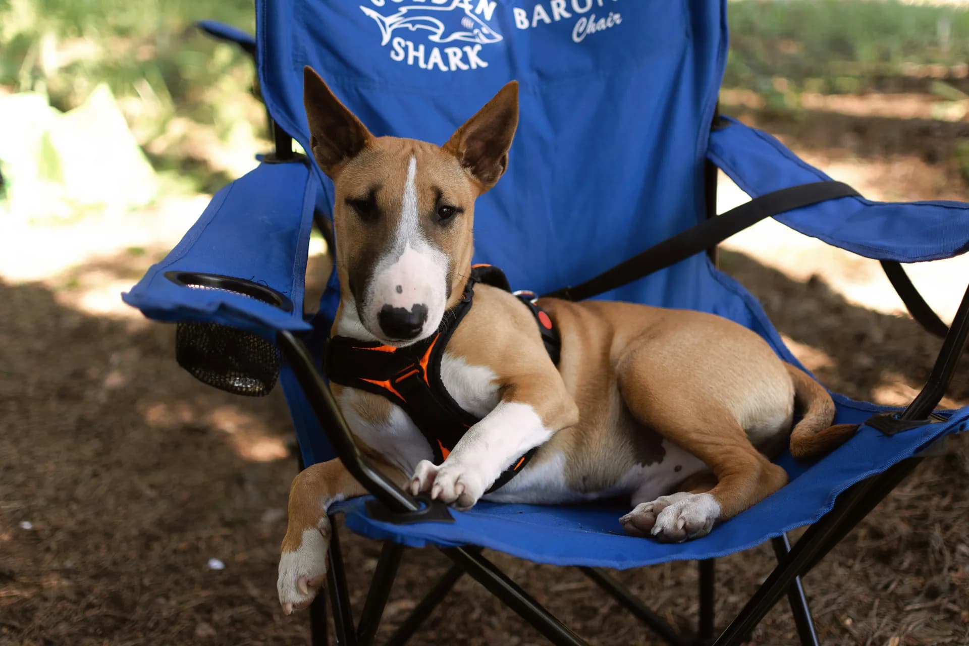
<path id="1" fill-rule="evenodd" d="M 373 135 L 308 65 L 303 68 L 303 106 L 313 157 L 324 172 L 334 177 Z"/>

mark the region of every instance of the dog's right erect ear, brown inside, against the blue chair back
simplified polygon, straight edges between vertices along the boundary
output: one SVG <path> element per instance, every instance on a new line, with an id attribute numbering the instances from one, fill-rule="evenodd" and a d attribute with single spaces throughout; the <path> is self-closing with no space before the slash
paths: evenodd
<path id="1" fill-rule="evenodd" d="M 508 149 L 517 127 L 518 81 L 513 80 L 442 147 L 457 157 L 485 193 L 508 168 Z"/>

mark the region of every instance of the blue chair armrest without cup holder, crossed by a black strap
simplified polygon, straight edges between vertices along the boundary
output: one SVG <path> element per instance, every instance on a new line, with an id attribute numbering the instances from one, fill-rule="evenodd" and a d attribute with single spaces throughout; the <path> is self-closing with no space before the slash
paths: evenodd
<path id="1" fill-rule="evenodd" d="M 722 117 L 706 157 L 752 198 L 830 179 L 776 138 Z M 916 262 L 969 251 L 969 204 L 957 201 L 879 202 L 841 198 L 777 216 L 788 227 L 860 256 Z"/>

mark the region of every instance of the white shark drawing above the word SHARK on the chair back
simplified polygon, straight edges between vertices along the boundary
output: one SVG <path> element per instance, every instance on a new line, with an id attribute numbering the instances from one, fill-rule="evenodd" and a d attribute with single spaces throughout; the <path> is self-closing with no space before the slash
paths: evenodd
<path id="1" fill-rule="evenodd" d="M 472 13 L 469 0 L 453 0 L 450 5 L 439 7 L 408 5 L 392 15 L 383 15 L 363 6 L 360 11 L 376 20 L 383 37 L 382 46 L 390 43 L 393 32 L 401 28 L 427 30 L 430 32 L 427 40 L 433 43 L 461 41 L 488 45 L 501 40 L 501 34 Z"/>

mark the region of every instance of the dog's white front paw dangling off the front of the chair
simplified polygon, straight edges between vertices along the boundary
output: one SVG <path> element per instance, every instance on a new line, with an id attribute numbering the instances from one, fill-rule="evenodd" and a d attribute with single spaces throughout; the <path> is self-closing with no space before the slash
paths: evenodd
<path id="1" fill-rule="evenodd" d="M 295 550 L 288 545 L 298 544 Z M 279 578 L 276 590 L 283 612 L 290 614 L 308 606 L 316 597 L 327 574 L 327 550 L 329 548 L 329 521 L 319 529 L 303 530 L 299 538 L 287 533 L 283 540 L 283 552 L 279 557 Z"/>

